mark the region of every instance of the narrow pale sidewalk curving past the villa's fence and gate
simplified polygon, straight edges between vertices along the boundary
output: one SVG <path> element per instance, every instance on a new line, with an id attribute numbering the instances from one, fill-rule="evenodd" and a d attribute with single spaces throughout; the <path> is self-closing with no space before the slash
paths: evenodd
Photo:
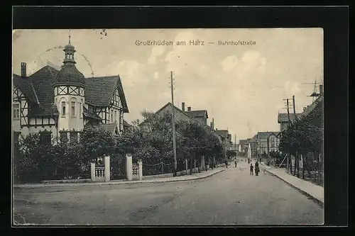
<path id="1" fill-rule="evenodd" d="M 223 172 L 224 167 L 217 167 L 215 169 L 209 169 L 207 172 L 195 173 L 191 175 L 183 175 L 177 177 L 168 178 L 156 178 L 146 180 L 111 180 L 109 182 L 89 182 L 89 183 L 68 183 L 68 184 L 13 184 L 14 188 L 36 188 L 36 187 L 50 187 L 50 186 L 88 186 L 88 185 L 113 185 L 113 184 L 152 184 L 152 183 L 164 183 L 164 182 L 177 182 L 177 181 L 191 181 L 196 179 L 204 179 L 219 172 Z"/>

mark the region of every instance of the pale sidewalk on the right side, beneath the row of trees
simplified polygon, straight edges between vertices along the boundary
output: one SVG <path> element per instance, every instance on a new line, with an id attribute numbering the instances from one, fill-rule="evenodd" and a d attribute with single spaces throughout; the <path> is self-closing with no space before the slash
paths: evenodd
<path id="1" fill-rule="evenodd" d="M 309 196 L 313 200 L 318 203 L 324 203 L 324 189 L 322 186 L 318 186 L 316 184 L 312 184 L 309 181 L 305 181 L 303 179 L 299 179 L 296 176 L 287 173 L 286 169 L 283 168 L 273 168 L 268 167 L 266 164 L 261 163 L 261 169 L 266 169 L 266 172 L 277 176 L 279 179 L 282 179 L 286 183 L 293 186 L 298 191 L 305 193 L 305 195 Z"/>

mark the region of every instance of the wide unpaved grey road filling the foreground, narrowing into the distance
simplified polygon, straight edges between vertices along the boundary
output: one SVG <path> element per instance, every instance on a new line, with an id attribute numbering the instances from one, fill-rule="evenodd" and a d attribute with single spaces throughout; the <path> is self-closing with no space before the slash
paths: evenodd
<path id="1" fill-rule="evenodd" d="M 275 176 L 251 176 L 246 162 L 239 167 L 196 181 L 15 189 L 15 218 L 40 225 L 323 223 L 323 208 L 307 196 Z"/>

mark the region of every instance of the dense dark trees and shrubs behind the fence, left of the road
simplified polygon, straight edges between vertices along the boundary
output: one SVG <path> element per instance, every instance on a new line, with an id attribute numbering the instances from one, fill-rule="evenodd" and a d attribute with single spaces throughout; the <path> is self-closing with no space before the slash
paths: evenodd
<path id="1" fill-rule="evenodd" d="M 13 150 L 15 180 L 86 179 L 90 176 L 90 163 L 104 155 L 111 157 L 112 172 L 124 175 L 128 152 L 133 154 L 133 162 L 141 159 L 145 164 L 173 164 L 171 115 L 157 116 L 148 111 L 141 114 L 144 125 L 139 127 L 136 120 L 130 129 L 119 136 L 98 126 L 85 128 L 80 133 L 80 142 L 43 145 L 38 134 L 23 137 L 21 145 L 14 145 Z M 182 164 L 185 159 L 192 162 L 202 155 L 207 162 L 210 158 L 217 162 L 222 159 L 222 143 L 206 125 L 185 120 L 175 125 L 178 169 L 185 168 Z"/>

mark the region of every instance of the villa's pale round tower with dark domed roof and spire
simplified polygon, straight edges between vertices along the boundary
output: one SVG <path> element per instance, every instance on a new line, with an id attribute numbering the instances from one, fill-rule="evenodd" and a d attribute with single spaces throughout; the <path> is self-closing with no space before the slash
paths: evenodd
<path id="1" fill-rule="evenodd" d="M 72 140 L 79 138 L 84 128 L 83 106 L 85 103 L 85 77 L 75 67 L 75 47 L 69 43 L 65 45 L 65 58 L 58 72 L 54 88 L 55 104 L 58 108 L 58 130 L 60 139 Z"/>

